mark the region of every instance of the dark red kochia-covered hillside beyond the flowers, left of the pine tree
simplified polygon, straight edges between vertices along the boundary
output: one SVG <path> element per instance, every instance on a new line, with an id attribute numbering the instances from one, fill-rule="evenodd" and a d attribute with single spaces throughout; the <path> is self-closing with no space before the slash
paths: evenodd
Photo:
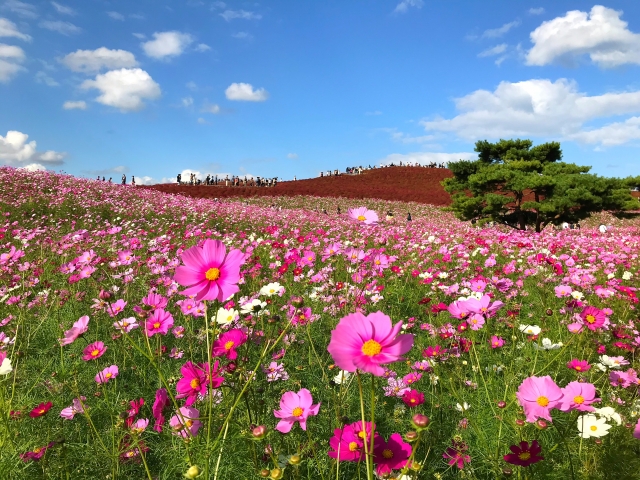
<path id="1" fill-rule="evenodd" d="M 164 193 L 179 193 L 195 198 L 229 197 L 314 197 L 378 198 L 431 205 L 449 205 L 451 197 L 440 182 L 451 177 L 445 168 L 390 167 L 365 171 L 362 175 L 311 178 L 281 182 L 274 188 L 153 185 L 148 188 Z"/>

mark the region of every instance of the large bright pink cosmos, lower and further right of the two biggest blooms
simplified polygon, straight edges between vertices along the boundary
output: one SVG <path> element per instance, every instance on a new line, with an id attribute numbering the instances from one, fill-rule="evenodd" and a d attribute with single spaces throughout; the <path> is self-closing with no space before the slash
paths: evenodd
<path id="1" fill-rule="evenodd" d="M 402 360 L 402 355 L 413 347 L 413 335 L 399 335 L 402 322 L 391 324 L 391 319 L 382 312 L 352 313 L 338 322 L 331 332 L 327 350 L 342 370 L 384 375 L 381 366 Z"/>

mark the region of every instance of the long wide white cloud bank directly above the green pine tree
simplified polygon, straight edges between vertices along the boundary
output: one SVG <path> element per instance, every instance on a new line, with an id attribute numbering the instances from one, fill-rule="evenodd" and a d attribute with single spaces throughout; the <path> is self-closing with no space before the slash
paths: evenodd
<path id="1" fill-rule="evenodd" d="M 566 79 L 536 79 L 501 82 L 493 92 L 476 90 L 455 102 L 459 115 L 422 121 L 425 129 L 452 132 L 467 140 L 560 137 L 603 145 L 625 143 L 638 132 L 637 117 L 599 129 L 586 124 L 640 113 L 640 90 L 589 96 Z"/>

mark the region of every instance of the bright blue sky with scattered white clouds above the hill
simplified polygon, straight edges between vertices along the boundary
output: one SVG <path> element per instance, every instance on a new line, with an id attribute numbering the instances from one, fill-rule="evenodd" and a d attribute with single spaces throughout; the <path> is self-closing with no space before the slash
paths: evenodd
<path id="1" fill-rule="evenodd" d="M 639 66 L 631 0 L 0 0 L 0 164 L 290 179 L 530 138 L 640 175 Z"/>

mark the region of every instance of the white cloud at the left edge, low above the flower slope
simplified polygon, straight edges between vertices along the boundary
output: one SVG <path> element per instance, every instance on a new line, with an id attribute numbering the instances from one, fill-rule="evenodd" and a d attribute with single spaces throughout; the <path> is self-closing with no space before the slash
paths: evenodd
<path id="1" fill-rule="evenodd" d="M 38 152 L 35 140 L 27 142 L 28 138 L 29 135 L 16 130 L 9 130 L 5 137 L 0 135 L 0 164 L 29 168 L 38 164 L 42 167 L 40 169 L 44 169 L 43 164 L 63 163 L 66 153 L 53 150 Z"/>

